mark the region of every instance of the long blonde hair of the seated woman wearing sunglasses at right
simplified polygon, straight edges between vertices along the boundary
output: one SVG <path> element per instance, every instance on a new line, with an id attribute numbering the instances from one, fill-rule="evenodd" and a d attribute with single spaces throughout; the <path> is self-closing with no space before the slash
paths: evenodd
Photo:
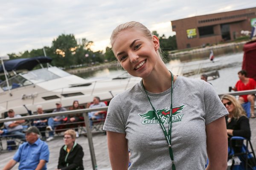
<path id="1" fill-rule="evenodd" d="M 234 110 L 231 113 L 233 118 L 239 119 L 241 116 L 247 116 L 241 104 L 238 100 L 236 100 L 234 96 L 230 94 L 225 94 L 221 97 L 221 102 L 223 101 L 223 99 L 229 100 L 234 105 Z"/>

